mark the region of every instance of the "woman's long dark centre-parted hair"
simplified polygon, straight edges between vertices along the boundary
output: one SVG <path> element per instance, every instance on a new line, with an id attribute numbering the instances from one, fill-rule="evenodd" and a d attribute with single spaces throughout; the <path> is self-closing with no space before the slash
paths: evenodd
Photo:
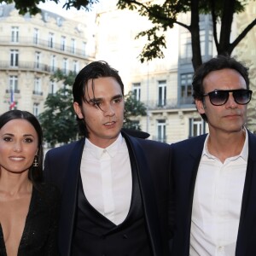
<path id="1" fill-rule="evenodd" d="M 38 134 L 38 166 L 32 165 L 28 170 L 28 178 L 31 180 L 32 184 L 37 187 L 37 184 L 43 181 L 44 149 L 41 125 L 32 113 L 15 109 L 0 115 L 0 129 L 2 129 L 3 125 L 14 119 L 25 119 L 34 127 Z"/>

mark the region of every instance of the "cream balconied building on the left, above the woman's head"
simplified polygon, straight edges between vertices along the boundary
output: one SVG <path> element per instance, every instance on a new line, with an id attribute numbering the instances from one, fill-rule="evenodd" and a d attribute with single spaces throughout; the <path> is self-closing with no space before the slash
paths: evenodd
<path id="1" fill-rule="evenodd" d="M 19 108 L 38 116 L 48 94 L 63 86 L 51 75 L 78 73 L 94 59 L 86 26 L 49 11 L 19 15 L 14 5 L 1 5 L 0 32 L 0 113 Z"/>

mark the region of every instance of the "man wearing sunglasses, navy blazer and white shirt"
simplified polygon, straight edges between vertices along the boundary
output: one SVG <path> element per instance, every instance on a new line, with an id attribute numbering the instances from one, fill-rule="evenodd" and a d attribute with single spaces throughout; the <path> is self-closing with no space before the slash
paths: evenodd
<path id="1" fill-rule="evenodd" d="M 172 255 L 256 255 L 256 137 L 247 67 L 218 55 L 193 78 L 209 133 L 173 143 Z"/>

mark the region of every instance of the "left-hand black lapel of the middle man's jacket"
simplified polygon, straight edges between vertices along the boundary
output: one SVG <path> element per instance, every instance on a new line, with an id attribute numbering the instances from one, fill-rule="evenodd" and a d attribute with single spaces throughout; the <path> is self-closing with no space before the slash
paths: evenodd
<path id="1" fill-rule="evenodd" d="M 75 144 L 72 154 L 69 157 L 67 166 L 67 177 L 63 186 L 62 203 L 61 203 L 61 219 L 60 219 L 60 234 L 61 248 L 63 254 L 70 255 L 71 244 L 73 237 L 73 224 L 77 207 L 78 197 L 78 181 L 80 163 L 83 154 L 84 139 Z"/>

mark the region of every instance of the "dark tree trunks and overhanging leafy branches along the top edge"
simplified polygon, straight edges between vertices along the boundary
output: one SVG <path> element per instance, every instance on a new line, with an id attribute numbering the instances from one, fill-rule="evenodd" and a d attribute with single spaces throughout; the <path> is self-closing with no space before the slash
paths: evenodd
<path id="1" fill-rule="evenodd" d="M 58 3 L 58 0 L 50 0 Z M 231 55 L 256 24 L 255 17 L 245 26 L 244 30 L 230 43 L 231 26 L 235 14 L 244 11 L 249 0 L 166 0 L 166 1 L 140 1 L 140 0 L 119 0 L 117 6 L 119 9 L 136 10 L 140 15 L 148 17 L 153 26 L 147 31 L 140 32 L 137 37 L 147 37 L 148 43 L 144 46 L 140 55 L 140 60 L 152 61 L 154 58 L 164 58 L 163 50 L 166 48 L 165 32 L 177 24 L 188 29 L 191 34 L 192 44 L 192 63 L 196 68 L 201 65 L 201 42 L 200 42 L 200 26 L 199 18 L 201 14 L 212 16 L 213 38 L 218 54 Z M 251 0 L 254 1 L 254 0 Z M 0 0 L 0 3 L 13 3 L 20 10 L 20 14 L 27 11 L 36 14 L 39 9 L 37 4 L 45 3 L 45 0 Z M 98 0 L 67 0 L 63 5 L 63 9 L 85 9 L 90 10 L 94 3 Z M 184 24 L 177 20 L 179 14 L 191 13 L 190 24 Z M 217 26 L 220 26 L 218 35 Z"/>

